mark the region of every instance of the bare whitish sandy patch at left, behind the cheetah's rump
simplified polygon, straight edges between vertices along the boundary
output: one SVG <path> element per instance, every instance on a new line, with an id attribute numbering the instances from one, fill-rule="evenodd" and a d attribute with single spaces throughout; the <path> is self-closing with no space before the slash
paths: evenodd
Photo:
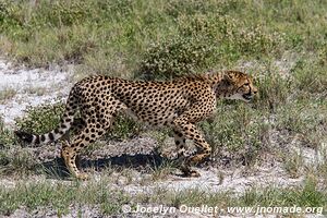
<path id="1" fill-rule="evenodd" d="M 71 86 L 72 66 L 26 69 L 13 66 L 0 59 L 0 92 L 14 90 L 13 97 L 0 101 L 0 114 L 7 125 L 14 126 L 14 119 L 23 116 L 27 106 L 56 102 L 65 98 Z"/>

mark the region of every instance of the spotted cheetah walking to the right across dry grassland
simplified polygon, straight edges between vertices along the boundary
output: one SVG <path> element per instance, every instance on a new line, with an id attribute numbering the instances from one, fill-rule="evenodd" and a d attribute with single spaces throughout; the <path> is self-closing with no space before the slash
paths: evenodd
<path id="1" fill-rule="evenodd" d="M 71 89 L 61 124 L 47 134 L 35 135 L 23 131 L 15 134 L 34 145 L 53 142 L 78 125 L 78 134 L 62 145 L 61 155 L 70 173 L 87 179 L 75 164 L 82 148 L 102 136 L 119 112 L 125 112 L 153 126 L 169 126 L 174 134 L 178 157 L 185 157 L 185 141 L 196 146 L 195 154 L 185 157 L 180 169 L 186 177 L 199 177 L 191 166 L 204 161 L 211 152 L 196 123 L 215 113 L 219 98 L 250 101 L 257 88 L 250 75 L 223 71 L 203 75 L 182 76 L 171 81 L 129 81 L 95 75 L 83 78 Z M 74 121 L 80 111 L 78 122 Z M 76 124 L 77 123 L 77 124 Z"/>

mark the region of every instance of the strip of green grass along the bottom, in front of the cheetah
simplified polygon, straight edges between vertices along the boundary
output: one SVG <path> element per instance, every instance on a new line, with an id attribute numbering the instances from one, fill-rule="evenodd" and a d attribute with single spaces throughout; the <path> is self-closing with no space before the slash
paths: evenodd
<path id="1" fill-rule="evenodd" d="M 108 189 L 108 179 L 90 181 L 83 184 L 73 181 L 68 184 L 49 184 L 45 181 L 26 184 L 19 183 L 15 187 L 0 190 L 0 214 L 8 215 L 16 208 L 25 206 L 29 211 L 36 208 L 53 209 L 59 215 L 71 213 L 70 207 L 88 205 L 98 208 L 106 215 L 118 215 L 123 205 L 136 208 L 136 205 L 165 205 L 177 207 L 201 207 L 202 205 L 227 207 L 326 207 L 327 195 L 319 191 L 310 179 L 300 189 L 280 189 L 275 186 L 253 187 L 235 197 L 230 192 L 207 193 L 199 189 L 171 192 L 157 189 L 153 194 L 130 195 L 122 191 Z M 135 209 L 134 208 L 134 209 Z"/>

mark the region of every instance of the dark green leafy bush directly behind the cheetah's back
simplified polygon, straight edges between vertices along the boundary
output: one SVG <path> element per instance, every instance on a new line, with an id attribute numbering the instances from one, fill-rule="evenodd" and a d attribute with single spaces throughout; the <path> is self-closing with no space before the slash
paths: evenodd
<path id="1" fill-rule="evenodd" d="M 174 37 L 153 44 L 144 55 L 141 72 L 145 78 L 170 78 L 205 68 L 214 47 L 205 38 Z"/>

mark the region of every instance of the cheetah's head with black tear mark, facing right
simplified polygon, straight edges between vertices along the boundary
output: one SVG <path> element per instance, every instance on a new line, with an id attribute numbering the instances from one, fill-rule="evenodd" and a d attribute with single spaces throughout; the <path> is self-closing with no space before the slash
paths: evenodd
<path id="1" fill-rule="evenodd" d="M 240 99 L 247 102 L 257 93 L 251 76 L 239 71 L 226 72 L 222 84 L 223 97 L 227 99 Z"/>

